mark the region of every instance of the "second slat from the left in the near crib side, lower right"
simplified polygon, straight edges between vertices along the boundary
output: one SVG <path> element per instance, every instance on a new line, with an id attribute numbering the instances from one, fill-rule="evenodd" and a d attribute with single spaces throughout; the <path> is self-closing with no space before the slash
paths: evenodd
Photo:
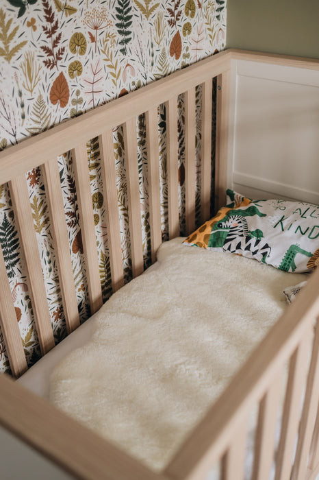
<path id="1" fill-rule="evenodd" d="M 277 376 L 259 404 L 253 479 L 269 479 L 275 451 L 275 428 L 280 396 L 281 376 Z"/>

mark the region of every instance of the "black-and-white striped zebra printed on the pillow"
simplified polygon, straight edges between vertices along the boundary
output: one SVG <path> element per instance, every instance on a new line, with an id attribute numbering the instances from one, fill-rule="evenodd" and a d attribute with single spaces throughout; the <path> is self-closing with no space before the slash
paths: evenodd
<path id="1" fill-rule="evenodd" d="M 261 241 L 263 237 L 259 228 L 248 230 L 247 220 L 242 215 L 231 215 L 213 226 L 207 247 L 222 248 L 230 253 L 251 252 L 253 258 L 266 263 L 271 248 L 268 243 Z"/>

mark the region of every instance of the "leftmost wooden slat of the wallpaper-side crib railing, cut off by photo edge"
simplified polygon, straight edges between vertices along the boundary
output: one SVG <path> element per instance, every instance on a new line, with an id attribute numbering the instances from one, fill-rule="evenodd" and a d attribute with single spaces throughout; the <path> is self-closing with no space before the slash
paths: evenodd
<path id="1" fill-rule="evenodd" d="M 12 375 L 18 377 L 27 370 L 21 335 L 16 321 L 10 284 L 0 246 L 0 324 Z"/>

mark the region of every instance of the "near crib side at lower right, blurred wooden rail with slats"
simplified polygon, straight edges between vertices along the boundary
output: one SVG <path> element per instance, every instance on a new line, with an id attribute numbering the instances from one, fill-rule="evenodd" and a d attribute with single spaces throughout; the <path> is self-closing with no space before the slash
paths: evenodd
<path id="1" fill-rule="evenodd" d="M 259 415 L 253 478 L 269 478 L 275 450 L 276 480 L 290 478 L 291 474 L 292 479 L 301 480 L 318 472 L 318 284 L 319 272 L 316 272 L 207 412 L 166 468 L 165 475 L 174 479 L 203 479 L 219 462 L 222 479 L 244 479 L 242 449 L 247 441 L 249 413 L 256 403 Z M 282 374 L 286 365 L 289 373 L 284 391 L 281 439 L 276 446 L 275 428 L 283 398 Z"/>

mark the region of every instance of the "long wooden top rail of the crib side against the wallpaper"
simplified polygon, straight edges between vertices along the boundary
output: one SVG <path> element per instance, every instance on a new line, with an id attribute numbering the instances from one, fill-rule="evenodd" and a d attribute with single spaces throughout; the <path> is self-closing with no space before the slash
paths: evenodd
<path id="1" fill-rule="evenodd" d="M 1 184 L 220 75 L 230 69 L 229 60 L 226 51 L 216 53 L 187 69 L 176 71 L 129 93 L 129 97 L 120 97 L 86 112 L 86 115 L 60 123 L 52 130 L 5 149 L 0 152 Z"/>

